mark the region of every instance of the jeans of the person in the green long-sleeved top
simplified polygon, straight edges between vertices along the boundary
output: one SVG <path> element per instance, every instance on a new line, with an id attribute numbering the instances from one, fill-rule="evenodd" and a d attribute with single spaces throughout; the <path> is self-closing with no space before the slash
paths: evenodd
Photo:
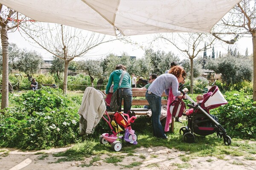
<path id="1" fill-rule="evenodd" d="M 124 100 L 124 113 L 128 113 L 131 110 L 131 102 L 132 102 L 132 91 L 130 88 L 119 88 L 119 109 L 120 112 L 122 110 L 122 99 Z"/>

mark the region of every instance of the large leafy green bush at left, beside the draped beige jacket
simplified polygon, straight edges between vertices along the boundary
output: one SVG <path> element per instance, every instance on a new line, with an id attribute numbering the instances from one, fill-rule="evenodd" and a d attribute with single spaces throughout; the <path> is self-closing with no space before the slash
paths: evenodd
<path id="1" fill-rule="evenodd" d="M 0 146 L 41 150 L 79 141 L 77 106 L 61 90 L 41 88 L 16 99 L 0 114 Z"/>

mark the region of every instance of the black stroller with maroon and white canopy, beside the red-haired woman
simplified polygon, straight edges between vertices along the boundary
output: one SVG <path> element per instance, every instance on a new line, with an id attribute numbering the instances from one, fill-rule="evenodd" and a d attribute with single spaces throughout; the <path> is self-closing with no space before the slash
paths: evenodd
<path id="1" fill-rule="evenodd" d="M 184 85 L 182 85 L 179 90 L 193 103 L 193 105 L 188 104 L 189 108 L 194 109 L 192 113 L 183 114 L 187 116 L 186 119 L 188 120 L 188 125 L 180 128 L 180 134 L 183 134 L 183 141 L 187 143 L 195 142 L 193 133 L 207 136 L 216 132 L 218 137 L 223 137 L 225 145 L 230 145 L 230 136 L 227 136 L 226 130 L 216 121 L 216 117 L 209 113 L 210 109 L 227 104 L 227 100 L 224 99 L 224 96 L 218 90 L 218 86 L 212 86 L 212 88 L 203 95 L 204 100 L 201 105 L 193 101 L 193 99 L 182 91 L 183 86 Z"/>

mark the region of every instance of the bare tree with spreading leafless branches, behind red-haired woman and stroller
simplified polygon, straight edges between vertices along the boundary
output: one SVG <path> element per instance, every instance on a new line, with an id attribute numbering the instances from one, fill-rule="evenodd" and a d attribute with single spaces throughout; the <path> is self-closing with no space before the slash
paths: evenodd
<path id="1" fill-rule="evenodd" d="M 193 94 L 194 83 L 194 59 L 198 57 L 204 49 L 212 48 L 215 38 L 206 33 L 171 33 L 160 34 L 160 38 L 167 43 L 174 45 L 179 51 L 185 54 L 190 60 L 190 93 Z M 206 45 L 206 46 L 205 46 Z"/>

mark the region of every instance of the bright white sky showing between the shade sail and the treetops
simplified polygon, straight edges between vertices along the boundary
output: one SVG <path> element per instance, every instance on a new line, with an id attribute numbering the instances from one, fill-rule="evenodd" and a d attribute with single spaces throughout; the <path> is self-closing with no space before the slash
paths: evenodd
<path id="1" fill-rule="evenodd" d="M 16 43 L 18 48 L 26 48 L 28 50 L 35 50 L 40 53 L 44 59 L 50 59 L 52 54 L 44 50 L 43 48 L 40 48 L 36 44 L 31 44 L 28 40 L 23 38 L 20 33 L 16 30 L 15 32 L 8 33 L 9 42 Z M 140 45 L 131 45 L 131 44 L 125 44 L 122 42 L 114 41 L 109 42 L 108 44 L 100 45 L 93 49 L 93 51 L 90 51 L 88 54 L 85 55 L 87 59 L 101 59 L 106 57 L 108 54 L 113 53 L 118 56 L 122 55 L 123 52 L 126 52 L 130 56 L 135 56 L 137 58 L 141 58 L 144 56 L 145 48 L 153 48 L 154 51 L 160 50 L 165 51 L 166 53 L 169 51 L 172 51 L 174 54 L 178 55 L 180 59 L 186 58 L 180 51 L 177 50 L 174 46 L 171 46 L 169 44 L 158 42 L 154 43 L 154 45 L 149 45 L 148 42 L 150 42 L 151 38 L 153 37 L 152 34 L 147 35 L 136 35 L 136 36 L 130 36 L 131 40 L 137 41 Z M 240 54 L 244 55 L 246 48 L 248 48 L 248 54 L 252 54 L 253 51 L 253 45 L 252 45 L 252 38 L 251 37 L 242 37 L 240 38 L 234 45 L 227 45 L 225 43 L 222 44 L 216 44 L 214 46 L 215 53 L 216 51 L 221 51 L 221 54 L 227 53 L 227 48 L 230 46 L 232 49 L 237 48 Z M 212 49 L 207 50 L 207 55 L 212 54 Z M 201 54 L 202 56 L 203 54 Z"/>

